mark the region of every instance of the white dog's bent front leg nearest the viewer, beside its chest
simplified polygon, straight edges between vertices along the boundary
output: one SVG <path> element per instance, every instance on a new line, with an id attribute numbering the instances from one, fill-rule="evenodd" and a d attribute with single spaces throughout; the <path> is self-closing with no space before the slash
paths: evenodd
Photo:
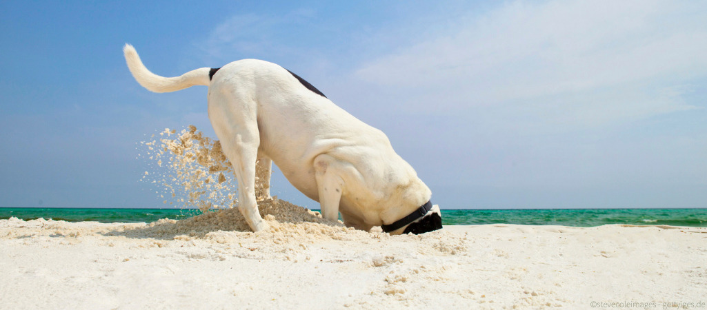
<path id="1" fill-rule="evenodd" d="M 326 154 L 319 155 L 314 160 L 322 217 L 327 220 L 339 219 L 339 201 L 341 192 L 344 191 L 344 181 L 337 173 L 338 166 L 337 160 Z"/>

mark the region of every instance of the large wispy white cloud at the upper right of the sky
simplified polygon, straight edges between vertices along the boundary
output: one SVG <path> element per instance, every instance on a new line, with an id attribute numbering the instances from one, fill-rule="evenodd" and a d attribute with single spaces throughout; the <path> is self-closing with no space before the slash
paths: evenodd
<path id="1" fill-rule="evenodd" d="M 701 4 L 518 1 L 450 23 L 435 38 L 356 71 L 396 109 L 539 114 L 537 124 L 597 126 L 691 109 L 676 86 L 707 76 Z M 402 94 L 402 97 L 400 96 Z M 496 114 L 503 117 L 503 114 Z"/>

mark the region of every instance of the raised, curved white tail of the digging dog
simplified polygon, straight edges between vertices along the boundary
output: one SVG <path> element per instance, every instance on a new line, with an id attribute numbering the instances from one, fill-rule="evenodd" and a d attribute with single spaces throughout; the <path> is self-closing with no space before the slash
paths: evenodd
<path id="1" fill-rule="evenodd" d="M 132 73 L 135 80 L 137 80 L 137 83 L 140 83 L 142 87 L 155 93 L 174 92 L 194 85 L 208 86 L 210 83 L 209 71 L 211 71 L 211 68 L 198 68 L 184 73 L 182 76 L 165 78 L 164 76 L 158 76 L 150 72 L 145 65 L 142 64 L 140 56 L 138 56 L 132 45 L 125 44 L 123 54 L 125 54 L 125 61 L 128 63 L 130 73 Z"/>

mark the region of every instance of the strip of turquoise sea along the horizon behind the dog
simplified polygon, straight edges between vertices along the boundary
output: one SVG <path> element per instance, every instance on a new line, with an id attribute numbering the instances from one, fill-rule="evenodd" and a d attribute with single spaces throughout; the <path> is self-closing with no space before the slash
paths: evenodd
<path id="1" fill-rule="evenodd" d="M 67 222 L 154 222 L 182 220 L 201 214 L 190 209 L 0 208 L 0 219 L 39 217 Z M 563 225 L 592 227 L 607 224 L 707 227 L 707 209 L 501 209 L 442 210 L 443 225 Z"/>

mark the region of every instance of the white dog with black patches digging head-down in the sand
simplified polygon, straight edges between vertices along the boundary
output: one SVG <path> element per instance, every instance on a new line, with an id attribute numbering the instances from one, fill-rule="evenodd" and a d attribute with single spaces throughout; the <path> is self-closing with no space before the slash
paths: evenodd
<path id="1" fill-rule="evenodd" d="M 238 178 L 239 209 L 253 231 L 268 227 L 256 195 L 269 197 L 271 162 L 288 181 L 319 201 L 322 216 L 391 234 L 442 228 L 432 192 L 390 145 L 387 136 L 351 116 L 296 74 L 267 61 L 244 59 L 223 68 L 157 76 L 134 47 L 123 52 L 144 88 L 173 92 L 209 86 L 209 119 Z M 257 165 L 257 167 L 256 167 Z M 264 180 L 256 188 L 255 178 Z"/>

